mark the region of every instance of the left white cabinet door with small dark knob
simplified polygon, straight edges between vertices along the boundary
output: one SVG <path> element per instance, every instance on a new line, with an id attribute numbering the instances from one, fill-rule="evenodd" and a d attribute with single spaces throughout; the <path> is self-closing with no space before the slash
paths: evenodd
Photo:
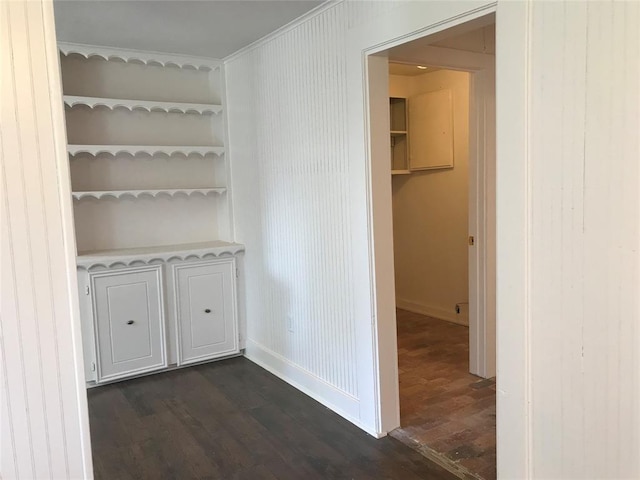
<path id="1" fill-rule="evenodd" d="M 167 366 L 160 266 L 91 274 L 98 382 Z"/>

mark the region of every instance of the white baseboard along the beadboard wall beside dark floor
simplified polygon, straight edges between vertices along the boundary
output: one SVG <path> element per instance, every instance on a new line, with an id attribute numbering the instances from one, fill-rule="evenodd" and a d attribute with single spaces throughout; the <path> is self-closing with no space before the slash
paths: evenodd
<path id="1" fill-rule="evenodd" d="M 360 422 L 360 400 L 353 395 L 334 387 L 264 345 L 251 339 L 247 339 L 246 342 L 244 356 L 256 365 L 310 396 L 369 435 L 376 438 L 387 435 L 387 432 L 377 432 Z"/>

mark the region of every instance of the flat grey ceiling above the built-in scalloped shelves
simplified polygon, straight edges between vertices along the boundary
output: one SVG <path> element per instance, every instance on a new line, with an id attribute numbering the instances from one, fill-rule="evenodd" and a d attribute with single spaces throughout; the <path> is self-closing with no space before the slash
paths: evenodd
<path id="1" fill-rule="evenodd" d="M 55 0 L 59 41 L 222 59 L 324 0 Z"/>

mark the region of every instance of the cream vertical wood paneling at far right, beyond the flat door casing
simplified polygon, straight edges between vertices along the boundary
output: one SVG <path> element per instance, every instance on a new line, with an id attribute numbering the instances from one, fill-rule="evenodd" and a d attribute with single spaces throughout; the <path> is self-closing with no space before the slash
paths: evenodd
<path id="1" fill-rule="evenodd" d="M 635 2 L 533 6 L 532 438 L 537 478 L 638 478 Z"/>

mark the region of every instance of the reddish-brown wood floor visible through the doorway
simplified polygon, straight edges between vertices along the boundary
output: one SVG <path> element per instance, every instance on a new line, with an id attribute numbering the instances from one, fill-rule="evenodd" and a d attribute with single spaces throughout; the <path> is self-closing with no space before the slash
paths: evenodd
<path id="1" fill-rule="evenodd" d="M 495 379 L 469 373 L 469 329 L 397 311 L 401 428 L 391 435 L 462 478 L 496 478 Z"/>

